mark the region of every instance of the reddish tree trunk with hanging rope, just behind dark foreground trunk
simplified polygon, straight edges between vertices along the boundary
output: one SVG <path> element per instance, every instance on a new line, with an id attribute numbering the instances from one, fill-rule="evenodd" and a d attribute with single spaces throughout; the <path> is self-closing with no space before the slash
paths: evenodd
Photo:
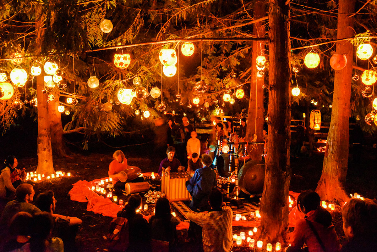
<path id="1" fill-rule="evenodd" d="M 265 1 L 258 1 L 254 5 L 254 18 L 264 17 Z M 265 27 L 264 23 L 257 22 L 254 25 L 254 35 L 264 36 Z M 254 134 L 257 135 L 256 141 L 263 141 L 263 123 L 264 123 L 264 75 L 262 78 L 257 78 L 257 68 L 255 67 L 256 58 L 264 50 L 264 44 L 254 41 L 253 49 L 251 52 L 251 64 L 254 66 L 251 70 L 251 83 L 250 83 L 250 99 L 249 109 L 247 115 L 247 127 L 246 127 L 246 141 L 253 141 Z M 248 146 L 248 154 L 252 160 L 262 160 L 262 154 L 264 152 L 264 146 L 262 144 L 252 144 Z"/>

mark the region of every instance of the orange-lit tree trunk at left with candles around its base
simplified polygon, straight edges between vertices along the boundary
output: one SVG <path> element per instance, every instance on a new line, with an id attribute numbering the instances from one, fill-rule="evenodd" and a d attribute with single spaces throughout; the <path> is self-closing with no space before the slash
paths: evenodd
<path id="1" fill-rule="evenodd" d="M 35 30 L 37 33 L 35 39 L 35 54 L 40 55 L 42 51 L 42 42 L 44 38 L 42 5 L 35 8 Z M 44 88 L 43 74 L 37 76 L 37 100 L 38 100 L 38 166 L 37 173 L 50 175 L 54 173 L 52 165 L 50 123 L 48 114 L 47 94 L 42 93 Z"/>

